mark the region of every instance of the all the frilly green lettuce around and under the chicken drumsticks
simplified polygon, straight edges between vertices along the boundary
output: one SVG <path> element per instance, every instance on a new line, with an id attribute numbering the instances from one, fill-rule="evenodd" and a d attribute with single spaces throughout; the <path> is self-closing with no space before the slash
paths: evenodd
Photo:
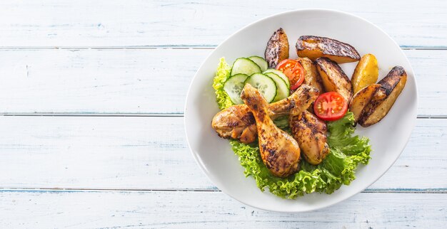
<path id="1" fill-rule="evenodd" d="M 217 103 L 221 109 L 233 105 L 223 85 L 230 75 L 230 67 L 221 58 L 214 78 L 213 87 L 216 90 Z M 288 131 L 287 117 L 276 119 L 276 125 Z M 238 156 L 241 165 L 245 168 L 244 174 L 252 176 L 257 186 L 264 191 L 266 188 L 282 198 L 297 198 L 305 193 L 321 192 L 333 193 L 342 184 L 348 185 L 356 179 L 355 170 L 359 163 L 368 164 L 371 152 L 369 139 L 358 137 L 354 134 L 354 117 L 352 112 L 347 112 L 342 119 L 328 122 L 327 142 L 330 153 L 326 159 L 313 166 L 305 160 L 300 161 L 300 171 L 287 178 L 273 176 L 263 164 L 258 148 L 258 143 L 243 144 L 237 140 L 231 140 L 230 144 L 234 153 Z"/>

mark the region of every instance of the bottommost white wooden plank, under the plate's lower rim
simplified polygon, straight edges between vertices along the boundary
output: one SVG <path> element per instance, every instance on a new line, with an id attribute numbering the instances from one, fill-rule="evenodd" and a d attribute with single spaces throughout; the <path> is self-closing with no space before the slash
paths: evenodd
<path id="1" fill-rule="evenodd" d="M 221 192 L 0 191 L 1 228 L 443 228 L 447 194 L 360 193 L 308 213 Z"/>

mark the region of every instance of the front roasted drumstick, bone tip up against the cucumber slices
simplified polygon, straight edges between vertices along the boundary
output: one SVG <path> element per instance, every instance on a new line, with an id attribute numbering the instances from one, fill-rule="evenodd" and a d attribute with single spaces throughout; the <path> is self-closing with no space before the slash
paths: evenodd
<path id="1" fill-rule="evenodd" d="M 273 175 L 279 177 L 286 177 L 298 171 L 298 142 L 273 124 L 268 116 L 268 102 L 261 93 L 251 85 L 246 85 L 243 87 L 241 98 L 256 120 L 263 163 Z"/>

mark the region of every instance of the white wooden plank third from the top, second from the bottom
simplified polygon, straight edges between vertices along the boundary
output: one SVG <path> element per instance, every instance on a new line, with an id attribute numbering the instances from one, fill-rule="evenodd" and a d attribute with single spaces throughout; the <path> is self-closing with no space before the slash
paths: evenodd
<path id="1" fill-rule="evenodd" d="M 0 127 L 0 188 L 217 190 L 191 156 L 181 117 L 0 117 Z M 368 191 L 447 191 L 445 149 L 447 119 L 418 119 Z"/>

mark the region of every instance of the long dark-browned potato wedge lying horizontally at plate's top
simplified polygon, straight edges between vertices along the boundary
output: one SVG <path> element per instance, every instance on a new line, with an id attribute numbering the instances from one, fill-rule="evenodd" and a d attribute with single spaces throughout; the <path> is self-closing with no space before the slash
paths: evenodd
<path id="1" fill-rule="evenodd" d="M 307 57 L 311 60 L 321 57 L 329 58 L 336 63 L 360 60 L 360 55 L 353 46 L 321 36 L 300 36 L 295 48 L 299 57 Z"/>

